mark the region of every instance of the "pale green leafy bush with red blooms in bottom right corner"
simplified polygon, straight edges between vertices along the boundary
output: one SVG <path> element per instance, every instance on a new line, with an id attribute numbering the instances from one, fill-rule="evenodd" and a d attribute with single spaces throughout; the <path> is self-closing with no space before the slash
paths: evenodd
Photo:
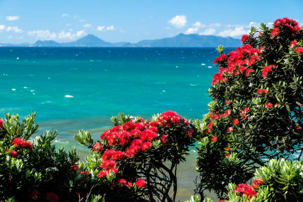
<path id="1" fill-rule="evenodd" d="M 302 202 L 303 161 L 271 159 L 255 171 L 252 186 L 230 183 L 227 191 L 228 200 L 219 202 Z"/>

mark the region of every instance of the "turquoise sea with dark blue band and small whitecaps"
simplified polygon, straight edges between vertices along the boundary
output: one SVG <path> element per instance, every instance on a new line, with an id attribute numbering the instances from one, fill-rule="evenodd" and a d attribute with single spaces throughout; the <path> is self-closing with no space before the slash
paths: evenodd
<path id="1" fill-rule="evenodd" d="M 150 119 L 174 110 L 200 119 L 218 55 L 214 48 L 2 47 L 0 114 L 36 111 L 38 135 L 57 129 L 56 144 L 76 147 L 83 157 L 88 151 L 74 134 L 89 130 L 97 140 L 120 111 Z M 181 202 L 193 194 L 195 163 L 192 152 L 179 169 Z"/>

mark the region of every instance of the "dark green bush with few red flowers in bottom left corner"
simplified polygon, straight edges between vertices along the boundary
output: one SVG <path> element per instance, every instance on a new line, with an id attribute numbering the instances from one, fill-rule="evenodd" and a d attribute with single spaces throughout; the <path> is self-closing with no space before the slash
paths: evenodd
<path id="1" fill-rule="evenodd" d="M 52 144 L 57 131 L 29 141 L 38 130 L 35 113 L 22 121 L 18 114 L 4 117 L 0 119 L 0 201 L 101 201 L 101 196 L 90 196 L 94 180 L 84 165 L 76 165 L 76 150 L 66 152 Z"/>

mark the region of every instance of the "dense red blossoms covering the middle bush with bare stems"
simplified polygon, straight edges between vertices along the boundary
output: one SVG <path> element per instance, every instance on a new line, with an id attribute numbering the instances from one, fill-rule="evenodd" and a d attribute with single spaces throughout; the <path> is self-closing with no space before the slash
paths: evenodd
<path id="1" fill-rule="evenodd" d="M 140 118 L 139 121 L 131 120 L 123 125 L 118 125 L 106 130 L 101 135 L 102 143 L 95 143 L 93 151 L 103 152 L 101 158 L 101 171 L 99 177 L 104 177 L 110 172 L 117 174 L 119 159 L 132 158 L 143 151 L 152 149 L 152 142 L 160 140 L 162 147 L 165 147 L 167 142 L 167 135 L 157 134 L 158 127 L 165 129 L 167 127 L 182 126 L 184 131 L 189 137 L 193 136 L 194 130 L 190 127 L 189 121 L 182 118 L 175 111 L 163 112 L 156 121 L 145 121 Z M 106 145 L 106 147 L 105 147 Z M 104 151 L 104 148 L 111 148 Z M 127 182 L 125 179 L 119 179 L 118 184 L 123 186 L 132 186 L 131 182 Z M 144 187 L 145 180 L 138 180 L 135 185 L 137 187 Z"/>

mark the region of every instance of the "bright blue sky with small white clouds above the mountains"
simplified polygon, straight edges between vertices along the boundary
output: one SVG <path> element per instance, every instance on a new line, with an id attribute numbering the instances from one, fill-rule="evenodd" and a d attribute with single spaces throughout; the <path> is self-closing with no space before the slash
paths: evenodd
<path id="1" fill-rule="evenodd" d="M 303 25 L 303 0 L 0 0 L 0 43 L 136 43 L 179 33 L 241 38 L 281 17 Z"/>

